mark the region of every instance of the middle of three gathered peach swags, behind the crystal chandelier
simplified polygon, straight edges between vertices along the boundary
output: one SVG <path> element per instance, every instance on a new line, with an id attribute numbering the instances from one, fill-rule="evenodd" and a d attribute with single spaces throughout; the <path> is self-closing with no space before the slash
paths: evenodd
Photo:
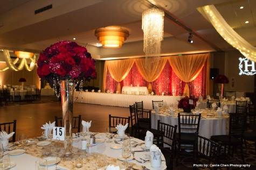
<path id="1" fill-rule="evenodd" d="M 143 79 L 149 82 L 149 93 L 152 91 L 151 82 L 155 81 L 161 74 L 167 58 L 156 59 L 156 61 L 146 60 L 145 58 L 135 59 L 136 66 L 142 75 Z"/>

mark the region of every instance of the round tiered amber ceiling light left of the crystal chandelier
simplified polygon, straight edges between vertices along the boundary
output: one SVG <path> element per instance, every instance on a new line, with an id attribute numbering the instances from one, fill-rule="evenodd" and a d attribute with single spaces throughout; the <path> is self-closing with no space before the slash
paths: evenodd
<path id="1" fill-rule="evenodd" d="M 129 37 L 129 31 L 120 26 L 107 26 L 96 29 L 95 36 L 104 48 L 120 48 Z"/>

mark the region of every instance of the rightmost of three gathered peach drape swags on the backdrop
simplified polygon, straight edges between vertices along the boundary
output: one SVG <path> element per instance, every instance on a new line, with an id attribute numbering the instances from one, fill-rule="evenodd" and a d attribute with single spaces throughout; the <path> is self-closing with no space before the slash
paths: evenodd
<path id="1" fill-rule="evenodd" d="M 172 70 L 182 81 L 186 82 L 183 95 L 189 96 L 188 82 L 196 79 L 205 62 L 209 59 L 210 54 L 190 54 L 181 56 L 170 56 L 168 61 Z M 207 62 L 208 63 L 208 62 Z M 206 77 L 207 79 L 207 77 Z M 206 87 L 208 84 L 206 84 Z"/>

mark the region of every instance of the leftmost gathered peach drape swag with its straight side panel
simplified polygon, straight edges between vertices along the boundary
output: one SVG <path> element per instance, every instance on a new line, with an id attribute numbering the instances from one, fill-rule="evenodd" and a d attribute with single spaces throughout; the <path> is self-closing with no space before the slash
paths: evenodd
<path id="1" fill-rule="evenodd" d="M 121 93 L 120 82 L 130 72 L 130 69 L 132 68 L 133 64 L 134 64 L 134 59 L 105 61 L 104 75 L 103 75 L 104 83 L 103 84 L 104 85 L 106 84 L 106 75 L 107 75 L 107 70 L 108 70 L 110 75 L 113 77 L 113 79 L 118 82 L 116 90 L 119 91 L 119 93 Z M 106 87 L 103 87 L 103 90 L 105 91 Z"/>

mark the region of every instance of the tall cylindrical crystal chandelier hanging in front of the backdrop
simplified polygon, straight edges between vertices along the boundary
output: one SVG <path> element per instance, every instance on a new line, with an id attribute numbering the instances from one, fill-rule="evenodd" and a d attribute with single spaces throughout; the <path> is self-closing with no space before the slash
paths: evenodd
<path id="1" fill-rule="evenodd" d="M 160 58 L 161 41 L 163 40 L 163 18 L 164 12 L 157 8 L 147 9 L 142 13 L 143 51 L 146 60 Z"/>

